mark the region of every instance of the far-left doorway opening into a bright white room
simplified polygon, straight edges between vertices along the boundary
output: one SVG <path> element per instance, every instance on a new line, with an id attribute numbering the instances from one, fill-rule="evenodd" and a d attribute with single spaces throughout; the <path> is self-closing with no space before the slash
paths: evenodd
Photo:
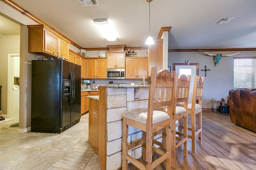
<path id="1" fill-rule="evenodd" d="M 20 112 L 20 54 L 8 54 L 7 117 L 19 119 Z"/>

